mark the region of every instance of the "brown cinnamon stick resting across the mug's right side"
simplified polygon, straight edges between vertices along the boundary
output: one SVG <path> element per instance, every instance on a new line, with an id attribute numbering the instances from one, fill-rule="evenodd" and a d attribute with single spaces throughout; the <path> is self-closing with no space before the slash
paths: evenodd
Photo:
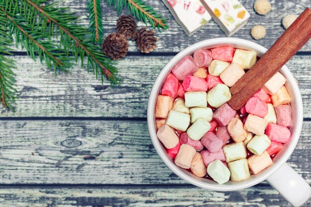
<path id="1" fill-rule="evenodd" d="M 238 110 L 311 38 L 311 9 L 305 11 L 230 89 L 229 105 Z"/>

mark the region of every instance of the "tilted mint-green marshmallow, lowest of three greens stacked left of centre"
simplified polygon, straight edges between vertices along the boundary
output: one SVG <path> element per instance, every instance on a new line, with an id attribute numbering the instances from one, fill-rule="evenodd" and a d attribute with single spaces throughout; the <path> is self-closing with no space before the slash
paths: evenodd
<path id="1" fill-rule="evenodd" d="M 200 140 L 205 133 L 210 130 L 210 128 L 211 125 L 208 121 L 203 118 L 199 118 L 188 128 L 187 135 L 193 140 Z"/>

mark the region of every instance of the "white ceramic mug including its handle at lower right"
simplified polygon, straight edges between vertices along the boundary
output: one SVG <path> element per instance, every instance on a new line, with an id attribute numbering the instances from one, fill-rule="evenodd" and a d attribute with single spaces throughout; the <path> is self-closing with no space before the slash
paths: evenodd
<path id="1" fill-rule="evenodd" d="M 157 153 L 163 162 L 177 176 L 195 186 L 215 191 L 235 191 L 251 187 L 264 180 L 267 180 L 270 185 L 278 190 L 282 196 L 293 206 L 299 207 L 303 205 L 306 201 L 309 200 L 311 196 L 311 187 L 299 174 L 293 170 L 293 168 L 285 163 L 296 147 L 303 125 L 302 97 L 294 76 L 286 66 L 283 66 L 280 72 L 287 80 L 286 87 L 292 97 L 291 104 L 293 110 L 293 126 L 291 127 L 291 139 L 286 144 L 284 144 L 283 149 L 274 157 L 273 164 L 259 174 L 252 175 L 245 181 L 229 181 L 225 184 L 218 184 L 205 178 L 199 178 L 186 171 L 185 169 L 176 166 L 173 160 L 167 156 L 165 148 L 156 137 L 156 96 L 158 95 L 160 87 L 162 86 L 166 76 L 170 73 L 171 69 L 173 69 L 173 67 L 185 56 L 192 54 L 194 51 L 200 48 L 215 48 L 219 46 L 233 46 L 235 48 L 253 50 L 257 52 L 259 57 L 261 57 L 267 51 L 266 48 L 247 40 L 236 38 L 215 38 L 196 43 L 173 57 L 157 76 L 148 103 L 147 117 L 149 133 Z"/>

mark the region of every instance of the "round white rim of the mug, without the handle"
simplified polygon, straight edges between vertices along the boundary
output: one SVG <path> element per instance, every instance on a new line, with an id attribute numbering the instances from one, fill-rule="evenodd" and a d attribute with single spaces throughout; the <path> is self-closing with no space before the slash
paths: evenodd
<path id="1" fill-rule="evenodd" d="M 200 48 L 213 48 L 219 47 L 219 46 L 225 46 L 225 45 L 232 45 L 235 48 L 242 48 L 242 49 L 248 49 L 248 50 L 255 50 L 258 53 L 261 53 L 260 56 L 262 56 L 264 53 L 266 53 L 267 49 L 257 43 L 238 39 L 238 38 L 231 38 L 231 37 L 223 37 L 223 38 L 213 38 L 204 40 L 198 43 L 195 43 L 181 52 L 179 52 L 177 55 L 175 55 L 160 71 L 158 74 L 156 81 L 153 85 L 152 91 L 150 93 L 149 102 L 148 102 L 148 109 L 147 109 L 147 121 L 148 121 L 148 128 L 150 137 L 152 139 L 153 145 L 156 148 L 156 152 L 162 159 L 162 161 L 172 170 L 178 177 L 182 178 L 183 180 L 187 181 L 188 183 L 191 183 L 195 186 L 215 190 L 215 191 L 234 191 L 234 190 L 241 190 L 244 188 L 248 188 L 251 186 L 254 186 L 265 179 L 267 179 L 271 174 L 276 172 L 290 157 L 290 155 L 293 153 L 297 142 L 300 138 L 300 133 L 302 130 L 302 124 L 303 124 L 303 103 L 302 103 L 302 97 L 301 93 L 298 87 L 298 84 L 296 83 L 296 79 L 294 78 L 291 71 L 287 68 L 286 65 L 284 65 L 280 70 L 282 73 L 287 77 L 286 80 L 289 82 L 291 87 L 293 88 L 295 94 L 297 93 L 297 96 L 295 96 L 295 102 L 297 104 L 297 122 L 295 123 L 296 129 L 294 133 L 291 135 L 291 142 L 289 146 L 287 147 L 285 153 L 278 158 L 277 162 L 274 163 L 272 166 L 270 166 L 268 169 L 265 170 L 265 172 L 261 172 L 256 175 L 256 178 L 253 179 L 247 179 L 245 181 L 240 182 L 234 182 L 232 185 L 221 185 L 221 184 L 209 184 L 205 183 L 203 181 L 200 181 L 199 178 L 194 178 L 193 176 L 187 175 L 185 172 L 183 172 L 178 166 L 176 166 L 174 163 L 171 162 L 170 158 L 167 157 L 166 152 L 163 150 L 161 143 L 159 142 L 158 138 L 156 137 L 156 129 L 155 129 L 155 105 L 156 105 L 156 96 L 158 94 L 159 88 L 162 85 L 162 81 L 166 78 L 167 74 L 173 69 L 173 67 L 186 55 L 189 55 L 193 53 L 195 50 Z M 258 54 L 259 55 L 259 54 Z M 293 101 L 293 100 L 292 100 Z M 254 175 L 252 175 L 254 176 Z"/>

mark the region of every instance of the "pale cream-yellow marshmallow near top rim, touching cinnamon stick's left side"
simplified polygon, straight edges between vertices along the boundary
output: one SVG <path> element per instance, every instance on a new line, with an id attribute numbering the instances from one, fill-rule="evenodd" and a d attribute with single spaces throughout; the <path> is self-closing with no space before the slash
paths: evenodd
<path id="1" fill-rule="evenodd" d="M 233 56 L 233 63 L 237 63 L 243 69 L 250 69 L 256 63 L 257 53 L 255 51 L 236 49 Z"/>

